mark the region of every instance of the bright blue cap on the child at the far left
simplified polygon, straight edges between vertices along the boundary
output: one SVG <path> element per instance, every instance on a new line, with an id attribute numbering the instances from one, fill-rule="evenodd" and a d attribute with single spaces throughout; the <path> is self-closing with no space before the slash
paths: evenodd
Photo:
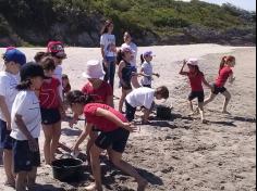
<path id="1" fill-rule="evenodd" d="M 9 49 L 3 54 L 3 60 L 5 62 L 15 62 L 20 65 L 24 65 L 26 63 L 26 55 L 17 49 Z"/>

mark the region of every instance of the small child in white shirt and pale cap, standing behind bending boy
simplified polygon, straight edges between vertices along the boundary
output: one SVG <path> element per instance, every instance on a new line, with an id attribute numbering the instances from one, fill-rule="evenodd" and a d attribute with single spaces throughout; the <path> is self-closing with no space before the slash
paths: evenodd
<path id="1" fill-rule="evenodd" d="M 144 76 L 142 79 L 142 86 L 147 88 L 151 88 L 152 76 L 157 76 L 158 78 L 160 77 L 158 73 L 154 73 L 152 71 L 152 51 L 146 51 L 145 53 L 140 54 L 140 75 Z"/>

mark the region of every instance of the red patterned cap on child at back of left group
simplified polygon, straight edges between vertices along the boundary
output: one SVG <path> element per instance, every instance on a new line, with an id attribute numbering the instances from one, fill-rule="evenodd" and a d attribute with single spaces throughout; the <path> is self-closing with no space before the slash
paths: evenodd
<path id="1" fill-rule="evenodd" d="M 50 52 L 53 56 L 66 59 L 64 46 L 61 41 L 49 41 L 47 46 L 47 52 Z"/>

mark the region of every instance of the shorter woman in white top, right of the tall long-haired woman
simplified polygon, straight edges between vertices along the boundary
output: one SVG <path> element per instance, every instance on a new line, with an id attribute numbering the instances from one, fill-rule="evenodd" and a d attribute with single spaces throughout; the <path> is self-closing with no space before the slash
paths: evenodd
<path id="1" fill-rule="evenodd" d="M 133 60 L 131 61 L 131 66 L 132 66 L 133 73 L 137 73 L 137 64 L 136 64 L 137 46 L 132 41 L 133 39 L 128 31 L 124 33 L 123 39 L 124 39 L 124 43 L 121 46 L 121 49 L 125 47 L 130 47 L 131 50 L 133 50 Z M 134 88 L 140 87 L 137 75 L 132 76 L 131 82 Z"/>

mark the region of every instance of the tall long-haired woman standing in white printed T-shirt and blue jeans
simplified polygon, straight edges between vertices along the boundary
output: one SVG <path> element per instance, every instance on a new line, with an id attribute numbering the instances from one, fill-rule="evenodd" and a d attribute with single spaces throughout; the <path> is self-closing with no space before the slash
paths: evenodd
<path id="1" fill-rule="evenodd" d="M 106 21 L 105 26 L 101 30 L 101 55 L 103 59 L 103 69 L 106 72 L 105 81 L 109 81 L 112 89 L 114 86 L 115 76 L 115 60 L 117 60 L 117 47 L 115 47 L 115 36 L 112 35 L 113 31 L 112 21 Z"/>

